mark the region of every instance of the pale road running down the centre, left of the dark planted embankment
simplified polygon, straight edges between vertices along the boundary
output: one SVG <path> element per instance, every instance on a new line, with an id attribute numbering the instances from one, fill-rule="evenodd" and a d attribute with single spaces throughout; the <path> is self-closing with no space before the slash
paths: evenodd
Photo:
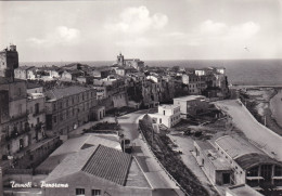
<path id="1" fill-rule="evenodd" d="M 127 114 L 118 117 L 117 120 L 120 128 L 124 130 L 125 136 L 130 139 L 134 145 L 133 155 L 137 157 L 139 166 L 154 190 L 153 194 L 162 196 L 184 195 L 159 166 L 148 144 L 139 133 L 138 121 L 145 113 L 146 110 Z"/>

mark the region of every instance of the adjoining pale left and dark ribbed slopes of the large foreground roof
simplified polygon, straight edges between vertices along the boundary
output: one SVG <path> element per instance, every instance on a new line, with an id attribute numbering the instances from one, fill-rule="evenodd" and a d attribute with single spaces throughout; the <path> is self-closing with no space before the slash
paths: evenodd
<path id="1" fill-rule="evenodd" d="M 131 155 L 103 145 L 68 155 L 46 179 L 52 181 L 79 171 L 125 185 Z"/>

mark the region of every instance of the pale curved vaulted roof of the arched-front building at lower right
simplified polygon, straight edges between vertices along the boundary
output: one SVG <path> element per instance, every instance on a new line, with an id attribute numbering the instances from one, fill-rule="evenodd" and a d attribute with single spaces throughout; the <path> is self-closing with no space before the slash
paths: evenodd
<path id="1" fill-rule="evenodd" d="M 225 135 L 216 140 L 216 145 L 222 148 L 232 159 L 236 159 L 247 154 L 265 155 L 257 147 L 241 138 Z"/>

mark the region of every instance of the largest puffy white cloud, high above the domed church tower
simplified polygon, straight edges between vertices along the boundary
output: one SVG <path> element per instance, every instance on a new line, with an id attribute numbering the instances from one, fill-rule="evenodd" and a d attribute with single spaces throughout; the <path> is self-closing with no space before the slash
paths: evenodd
<path id="1" fill-rule="evenodd" d="M 162 13 L 150 15 L 145 6 L 127 8 L 118 19 L 105 24 L 107 30 L 126 34 L 143 34 L 151 29 L 162 29 L 166 26 L 168 17 Z"/>

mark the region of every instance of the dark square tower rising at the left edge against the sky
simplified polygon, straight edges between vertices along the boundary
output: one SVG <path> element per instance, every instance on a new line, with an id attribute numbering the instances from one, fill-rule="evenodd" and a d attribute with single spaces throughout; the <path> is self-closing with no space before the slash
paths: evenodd
<path id="1" fill-rule="evenodd" d="M 10 44 L 9 49 L 0 51 L 0 76 L 14 77 L 14 69 L 18 67 L 16 45 Z"/>

